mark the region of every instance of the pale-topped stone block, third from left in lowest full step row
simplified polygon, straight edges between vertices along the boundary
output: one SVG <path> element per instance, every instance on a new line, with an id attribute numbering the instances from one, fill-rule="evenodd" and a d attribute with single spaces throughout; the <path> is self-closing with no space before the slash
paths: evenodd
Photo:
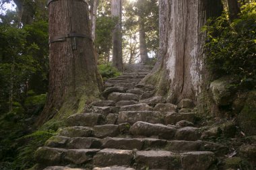
<path id="1" fill-rule="evenodd" d="M 130 166 L 133 151 L 105 148 L 94 156 L 94 167 Z"/>

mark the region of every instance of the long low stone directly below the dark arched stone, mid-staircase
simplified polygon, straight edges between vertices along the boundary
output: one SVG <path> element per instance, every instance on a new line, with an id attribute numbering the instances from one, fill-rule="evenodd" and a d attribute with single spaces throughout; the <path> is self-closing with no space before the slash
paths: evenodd
<path id="1" fill-rule="evenodd" d="M 139 96 L 135 95 L 133 93 L 110 93 L 110 95 L 108 95 L 108 99 L 113 100 L 115 102 L 118 101 L 122 101 L 122 100 L 135 100 L 138 101 L 139 100 Z"/>

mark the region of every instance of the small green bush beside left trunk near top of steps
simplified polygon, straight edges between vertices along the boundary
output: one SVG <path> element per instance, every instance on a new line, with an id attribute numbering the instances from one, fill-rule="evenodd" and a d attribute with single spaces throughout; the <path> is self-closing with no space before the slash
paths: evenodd
<path id="1" fill-rule="evenodd" d="M 121 73 L 115 67 L 112 67 L 109 64 L 98 65 L 98 70 L 100 71 L 100 75 L 104 80 L 121 75 Z"/>

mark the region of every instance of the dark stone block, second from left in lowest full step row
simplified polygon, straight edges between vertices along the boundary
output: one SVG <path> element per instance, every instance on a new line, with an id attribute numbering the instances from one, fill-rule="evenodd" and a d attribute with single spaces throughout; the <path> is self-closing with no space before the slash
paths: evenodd
<path id="1" fill-rule="evenodd" d="M 92 157 L 94 157 L 98 151 L 100 151 L 100 149 L 69 149 L 65 153 L 64 161 L 76 165 L 86 163 L 92 160 Z"/>

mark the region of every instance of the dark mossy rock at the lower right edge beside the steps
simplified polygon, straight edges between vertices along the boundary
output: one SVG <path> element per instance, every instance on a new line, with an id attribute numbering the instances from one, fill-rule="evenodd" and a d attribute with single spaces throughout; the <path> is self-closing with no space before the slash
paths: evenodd
<path id="1" fill-rule="evenodd" d="M 247 135 L 256 135 L 256 91 L 249 92 L 245 106 L 238 115 L 238 124 Z"/>

